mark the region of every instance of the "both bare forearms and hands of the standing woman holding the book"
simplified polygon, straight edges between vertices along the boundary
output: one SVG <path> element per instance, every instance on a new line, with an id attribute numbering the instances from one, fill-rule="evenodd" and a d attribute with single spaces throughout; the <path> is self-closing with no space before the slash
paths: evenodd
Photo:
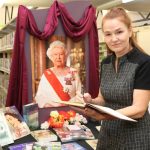
<path id="1" fill-rule="evenodd" d="M 103 97 L 99 95 L 95 99 L 88 99 L 88 102 L 94 103 L 94 104 L 101 104 L 104 102 Z M 133 119 L 141 118 L 145 114 L 146 110 L 148 109 L 150 100 L 150 90 L 139 90 L 135 89 L 133 92 L 133 103 L 131 106 L 122 108 L 117 110 L 121 114 L 131 117 Z M 104 103 L 103 103 L 104 104 Z M 96 120 L 114 120 L 115 117 L 112 117 L 107 114 L 100 113 L 96 110 L 93 110 L 91 108 L 85 108 L 82 110 L 82 113 L 86 116 L 92 117 Z"/>

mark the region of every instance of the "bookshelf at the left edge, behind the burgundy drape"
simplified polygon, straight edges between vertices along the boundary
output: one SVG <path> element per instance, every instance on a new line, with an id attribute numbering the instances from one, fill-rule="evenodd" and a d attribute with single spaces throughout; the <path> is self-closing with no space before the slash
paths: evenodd
<path id="1" fill-rule="evenodd" d="M 13 52 L 15 19 L 0 29 L 0 107 L 5 106 Z"/>

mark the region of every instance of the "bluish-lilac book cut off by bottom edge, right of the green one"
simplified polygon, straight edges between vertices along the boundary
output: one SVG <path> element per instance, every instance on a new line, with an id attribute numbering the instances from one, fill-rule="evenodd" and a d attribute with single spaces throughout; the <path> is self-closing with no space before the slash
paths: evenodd
<path id="1" fill-rule="evenodd" d="M 87 150 L 76 142 L 62 144 L 61 148 L 62 150 Z"/>

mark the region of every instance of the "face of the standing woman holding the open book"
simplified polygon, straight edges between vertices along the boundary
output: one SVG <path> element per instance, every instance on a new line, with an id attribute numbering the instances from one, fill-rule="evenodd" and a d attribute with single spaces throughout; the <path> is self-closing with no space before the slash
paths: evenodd
<path id="1" fill-rule="evenodd" d="M 119 18 L 104 20 L 103 33 L 107 46 L 116 56 L 122 56 L 130 50 L 132 31 Z"/>

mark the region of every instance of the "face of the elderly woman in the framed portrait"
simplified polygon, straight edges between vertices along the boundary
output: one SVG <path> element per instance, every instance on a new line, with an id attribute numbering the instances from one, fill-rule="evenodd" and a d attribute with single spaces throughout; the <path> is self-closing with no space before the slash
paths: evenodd
<path id="1" fill-rule="evenodd" d="M 61 47 L 55 47 L 51 59 L 55 67 L 64 67 L 66 61 L 64 49 Z"/>

